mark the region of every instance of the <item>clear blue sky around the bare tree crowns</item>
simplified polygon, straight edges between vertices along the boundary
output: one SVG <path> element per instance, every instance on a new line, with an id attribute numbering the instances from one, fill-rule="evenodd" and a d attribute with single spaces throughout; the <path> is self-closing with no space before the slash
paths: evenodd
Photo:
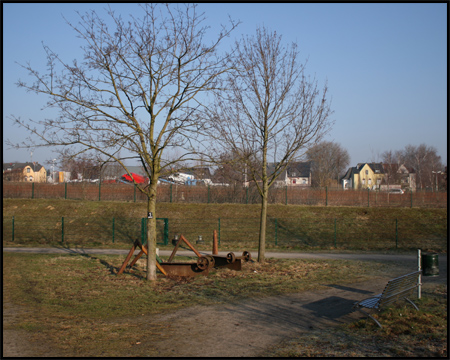
<path id="1" fill-rule="evenodd" d="M 80 41 L 62 16 L 76 22 L 75 11 L 106 4 L 2 4 L 3 6 L 3 161 L 29 161 L 29 150 L 9 150 L 5 139 L 19 141 L 23 130 L 6 116 L 51 118 L 41 111 L 42 95 L 17 88 L 30 80 L 16 64 L 45 69 L 41 43 L 67 61 L 82 55 Z M 124 16 L 137 4 L 113 3 Z M 340 143 L 351 166 L 380 161 L 386 150 L 425 143 L 447 163 L 447 4 L 200 4 L 211 31 L 228 15 L 242 21 L 234 38 L 265 25 L 296 41 L 306 72 L 319 84 L 328 80 L 335 125 L 328 141 Z M 225 44 L 224 44 L 225 45 Z M 36 149 L 33 161 L 52 159 L 51 149 Z"/>

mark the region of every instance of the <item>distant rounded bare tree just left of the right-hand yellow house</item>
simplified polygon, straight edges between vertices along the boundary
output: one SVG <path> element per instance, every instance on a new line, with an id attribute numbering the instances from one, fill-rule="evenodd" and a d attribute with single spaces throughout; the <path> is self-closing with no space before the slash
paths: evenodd
<path id="1" fill-rule="evenodd" d="M 340 175 L 350 164 L 350 156 L 340 144 L 322 141 L 312 146 L 306 153 L 312 161 L 311 177 L 314 186 L 329 186 L 338 183 Z"/>

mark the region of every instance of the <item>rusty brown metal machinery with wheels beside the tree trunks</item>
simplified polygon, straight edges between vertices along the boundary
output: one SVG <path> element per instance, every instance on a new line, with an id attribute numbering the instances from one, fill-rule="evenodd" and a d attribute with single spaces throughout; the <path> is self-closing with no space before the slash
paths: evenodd
<path id="1" fill-rule="evenodd" d="M 232 270 L 241 270 L 242 269 L 242 260 L 249 261 L 251 260 L 251 254 L 248 251 L 244 251 L 242 256 L 235 256 L 234 253 L 230 252 L 227 255 L 219 255 L 218 247 L 217 247 L 217 231 L 214 230 L 213 236 L 213 253 L 212 254 L 200 254 L 194 246 L 183 236 L 181 235 L 179 239 L 175 237 L 172 242 L 175 247 L 172 253 L 169 256 L 169 259 L 165 262 L 159 259 L 157 256 L 156 266 L 164 275 L 166 276 L 198 276 L 198 275 L 208 275 L 209 271 L 212 268 L 226 267 Z M 180 248 L 181 244 L 185 243 L 194 253 L 197 255 L 197 261 L 195 263 L 188 262 L 173 262 L 173 258 L 175 257 L 176 252 Z M 125 268 L 127 267 L 128 262 L 130 261 L 134 251 L 139 247 L 141 251 L 138 255 L 133 259 L 130 263 L 129 267 L 131 268 L 139 258 L 145 253 L 147 255 L 147 247 L 141 245 L 139 240 L 136 240 L 128 253 L 127 258 L 125 259 L 122 267 L 120 268 L 117 275 L 123 273 Z"/>

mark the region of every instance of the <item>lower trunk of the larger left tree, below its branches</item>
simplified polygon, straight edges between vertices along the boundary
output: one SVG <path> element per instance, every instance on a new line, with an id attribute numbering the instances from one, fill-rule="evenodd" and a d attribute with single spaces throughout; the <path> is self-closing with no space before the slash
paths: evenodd
<path id="1" fill-rule="evenodd" d="M 147 202 L 147 280 L 156 281 L 156 182 L 150 183 Z"/>

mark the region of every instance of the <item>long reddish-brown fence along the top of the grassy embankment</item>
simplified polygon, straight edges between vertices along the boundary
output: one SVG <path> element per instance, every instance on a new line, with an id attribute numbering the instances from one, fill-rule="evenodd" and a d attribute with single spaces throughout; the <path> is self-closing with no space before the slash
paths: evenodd
<path id="1" fill-rule="evenodd" d="M 94 183 L 23 183 L 4 182 L 3 198 L 72 199 L 94 201 L 146 201 L 134 185 Z M 160 185 L 158 202 L 257 204 L 261 199 L 256 187 Z M 409 192 L 389 194 L 369 190 L 329 188 L 272 187 L 270 204 L 423 207 L 446 208 L 447 192 Z"/>

